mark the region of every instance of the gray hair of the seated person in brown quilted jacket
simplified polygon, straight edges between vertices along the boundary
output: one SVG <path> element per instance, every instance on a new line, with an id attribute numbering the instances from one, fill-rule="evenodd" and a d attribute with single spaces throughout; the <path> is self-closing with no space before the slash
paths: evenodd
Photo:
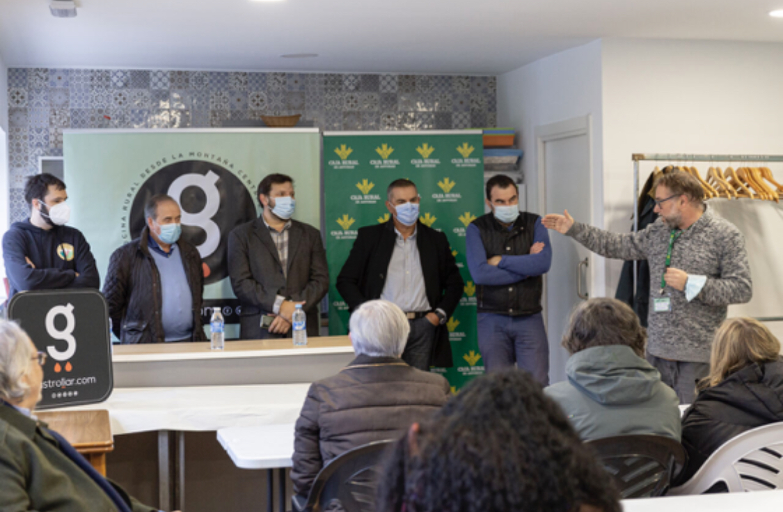
<path id="1" fill-rule="evenodd" d="M 399 358 L 408 343 L 410 325 L 402 310 L 388 300 L 368 300 L 351 315 L 353 350 L 380 358 Z"/>

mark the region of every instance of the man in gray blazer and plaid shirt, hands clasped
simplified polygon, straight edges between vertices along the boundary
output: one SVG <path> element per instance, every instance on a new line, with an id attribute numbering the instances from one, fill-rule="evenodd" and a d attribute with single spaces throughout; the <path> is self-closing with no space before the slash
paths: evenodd
<path id="1" fill-rule="evenodd" d="M 318 336 L 318 303 L 327 294 L 327 253 L 320 232 L 294 215 L 294 180 L 270 174 L 258 184 L 258 219 L 229 234 L 229 276 L 239 298 L 240 338 L 290 338 L 297 304 L 307 313 L 307 335 Z"/>

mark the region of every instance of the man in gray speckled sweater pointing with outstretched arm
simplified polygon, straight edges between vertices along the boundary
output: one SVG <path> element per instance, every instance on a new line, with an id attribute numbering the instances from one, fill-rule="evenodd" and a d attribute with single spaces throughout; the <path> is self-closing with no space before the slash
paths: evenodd
<path id="1" fill-rule="evenodd" d="M 615 234 L 550 214 L 543 225 L 607 258 L 648 260 L 650 304 L 647 360 L 673 387 L 680 403 L 695 398 L 696 380 L 709 372 L 713 336 L 729 304 L 752 296 L 745 238 L 704 202 L 702 184 L 675 171 L 655 187 L 660 220 L 644 230 Z"/>

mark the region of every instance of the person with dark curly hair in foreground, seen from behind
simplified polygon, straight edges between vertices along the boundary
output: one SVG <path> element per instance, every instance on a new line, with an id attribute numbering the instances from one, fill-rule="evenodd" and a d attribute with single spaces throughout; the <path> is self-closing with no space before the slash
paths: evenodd
<path id="1" fill-rule="evenodd" d="M 528 372 L 478 377 L 391 452 L 377 512 L 619 512 L 594 452 Z"/>

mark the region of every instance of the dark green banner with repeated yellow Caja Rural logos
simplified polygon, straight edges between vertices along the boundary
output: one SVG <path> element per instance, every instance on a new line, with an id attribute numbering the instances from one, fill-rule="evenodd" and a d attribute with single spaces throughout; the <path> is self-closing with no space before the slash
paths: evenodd
<path id="1" fill-rule="evenodd" d="M 389 219 L 386 187 L 398 178 L 416 183 L 420 221 L 446 233 L 466 283 L 460 305 L 447 324 L 453 368 L 433 369 L 458 390 L 484 372 L 476 343 L 476 289 L 465 260 L 465 230 L 484 212 L 481 132 L 324 133 L 329 332 L 348 332 L 348 306 L 335 288 L 337 274 L 359 227 Z"/>

